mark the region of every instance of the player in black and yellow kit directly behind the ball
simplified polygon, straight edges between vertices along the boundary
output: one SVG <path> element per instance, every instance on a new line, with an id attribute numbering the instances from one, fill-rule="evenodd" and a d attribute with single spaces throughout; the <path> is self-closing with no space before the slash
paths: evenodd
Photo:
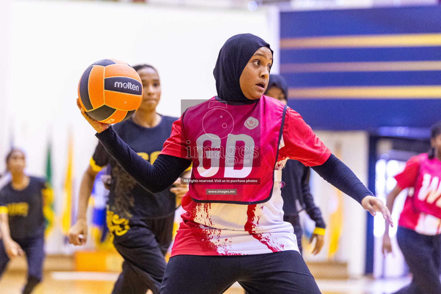
<path id="1" fill-rule="evenodd" d="M 139 156 L 153 164 L 177 118 L 156 113 L 161 96 L 157 71 L 149 65 L 134 68 L 142 80 L 141 106 L 130 119 L 117 123 L 114 128 Z M 108 164 L 111 181 L 107 225 L 113 244 L 124 257 L 123 272 L 112 294 L 145 294 L 148 289 L 159 294 L 166 265 L 164 254 L 172 242 L 176 198 L 182 197 L 188 187 L 176 181 L 171 189 L 151 194 L 98 143 L 80 186 L 77 222 L 69 234 L 69 241 L 74 245 L 86 243 L 86 210 L 93 181 L 98 171 Z"/>

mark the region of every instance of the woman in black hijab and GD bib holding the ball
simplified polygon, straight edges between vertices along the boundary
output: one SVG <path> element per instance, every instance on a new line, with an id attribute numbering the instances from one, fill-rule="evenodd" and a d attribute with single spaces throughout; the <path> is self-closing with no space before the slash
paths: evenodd
<path id="1" fill-rule="evenodd" d="M 263 95 L 272 53 L 252 34 L 228 39 L 214 69 L 218 96 L 188 108 L 173 123 L 153 165 L 77 103 L 108 153 L 146 190 L 167 189 L 193 163 L 193 182 L 182 198 L 186 213 L 162 294 L 220 294 L 236 281 L 250 294 L 320 293 L 292 226 L 283 221 L 281 169 L 289 158 L 314 166 L 371 214 L 381 211 L 391 220 L 385 205 L 330 153 L 298 113 Z M 240 181 L 253 184 L 229 184 Z"/>

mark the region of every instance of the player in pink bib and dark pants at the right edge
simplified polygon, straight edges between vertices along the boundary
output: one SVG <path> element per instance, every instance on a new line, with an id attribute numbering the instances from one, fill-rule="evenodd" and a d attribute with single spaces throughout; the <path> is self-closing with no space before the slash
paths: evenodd
<path id="1" fill-rule="evenodd" d="M 404 171 L 395 176 L 396 186 L 386 200 L 392 211 L 395 198 L 408 188 L 396 238 L 413 279 L 409 286 L 395 294 L 441 293 L 441 122 L 431 127 L 430 143 L 429 153 L 412 157 Z M 388 220 L 383 252 L 392 252 Z"/>

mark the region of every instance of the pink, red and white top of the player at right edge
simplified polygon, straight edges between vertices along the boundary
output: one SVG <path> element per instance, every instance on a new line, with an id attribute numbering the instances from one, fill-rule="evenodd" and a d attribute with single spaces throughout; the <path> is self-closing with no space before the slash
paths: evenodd
<path id="1" fill-rule="evenodd" d="M 427 153 L 412 157 L 395 176 L 397 186 L 409 188 L 398 225 L 425 235 L 441 233 L 441 162 Z"/>

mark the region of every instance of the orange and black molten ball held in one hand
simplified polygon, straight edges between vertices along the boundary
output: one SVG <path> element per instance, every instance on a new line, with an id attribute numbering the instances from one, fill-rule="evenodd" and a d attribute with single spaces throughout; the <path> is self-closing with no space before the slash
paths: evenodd
<path id="1" fill-rule="evenodd" d="M 101 123 L 130 118 L 142 100 L 142 82 L 127 63 L 103 59 L 87 67 L 78 83 L 81 107 Z"/>

